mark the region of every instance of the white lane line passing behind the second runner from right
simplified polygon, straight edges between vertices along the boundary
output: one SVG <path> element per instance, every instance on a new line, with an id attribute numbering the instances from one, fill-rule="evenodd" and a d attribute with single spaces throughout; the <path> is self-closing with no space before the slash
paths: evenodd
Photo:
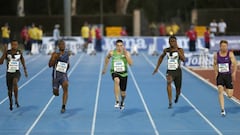
<path id="1" fill-rule="evenodd" d="M 146 59 L 146 61 L 152 65 L 153 68 L 155 68 L 155 65 L 147 58 L 147 56 L 145 54 L 143 54 L 144 58 Z M 158 73 L 166 80 L 165 75 L 160 72 L 160 70 L 158 70 Z M 175 88 L 175 86 L 172 84 L 172 86 Z M 197 109 L 197 107 L 195 105 L 192 104 L 192 102 L 190 100 L 188 100 L 187 97 L 184 96 L 183 93 L 181 93 L 181 96 L 188 102 L 188 104 L 214 129 L 214 131 L 217 132 L 218 135 L 223 135 L 223 133 L 210 121 L 208 120 L 208 118 L 206 116 L 204 116 L 201 111 L 199 111 Z"/>

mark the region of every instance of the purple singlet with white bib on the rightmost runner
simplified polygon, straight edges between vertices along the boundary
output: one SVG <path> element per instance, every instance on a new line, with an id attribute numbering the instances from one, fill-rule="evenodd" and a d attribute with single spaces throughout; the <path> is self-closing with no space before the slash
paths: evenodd
<path id="1" fill-rule="evenodd" d="M 220 53 L 217 52 L 217 64 L 218 72 L 223 74 L 231 74 L 231 59 L 229 57 L 229 51 L 226 56 L 220 56 Z"/>

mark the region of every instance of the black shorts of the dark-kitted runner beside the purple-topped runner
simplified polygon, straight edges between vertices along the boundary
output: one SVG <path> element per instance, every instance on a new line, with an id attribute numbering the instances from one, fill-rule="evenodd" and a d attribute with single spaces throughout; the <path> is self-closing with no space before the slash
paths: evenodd
<path id="1" fill-rule="evenodd" d="M 177 70 L 167 70 L 167 75 L 172 77 L 176 89 L 181 89 L 182 87 L 182 70 L 178 68 Z"/>

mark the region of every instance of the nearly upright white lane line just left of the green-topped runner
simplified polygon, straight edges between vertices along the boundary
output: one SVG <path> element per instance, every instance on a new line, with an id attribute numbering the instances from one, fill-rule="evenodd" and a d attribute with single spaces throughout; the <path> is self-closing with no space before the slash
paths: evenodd
<path id="1" fill-rule="evenodd" d="M 97 85 L 97 93 L 96 93 L 96 100 L 95 100 L 95 106 L 94 106 L 94 113 L 93 113 L 93 122 L 92 122 L 92 128 L 91 128 L 91 135 L 94 135 L 95 132 L 95 126 L 96 126 L 96 117 L 97 117 L 97 109 L 98 109 L 98 98 L 99 98 L 99 92 L 101 87 L 101 81 L 102 81 L 102 68 L 103 68 L 103 54 L 101 58 L 101 66 L 99 69 L 99 75 L 98 75 L 98 85 Z"/>

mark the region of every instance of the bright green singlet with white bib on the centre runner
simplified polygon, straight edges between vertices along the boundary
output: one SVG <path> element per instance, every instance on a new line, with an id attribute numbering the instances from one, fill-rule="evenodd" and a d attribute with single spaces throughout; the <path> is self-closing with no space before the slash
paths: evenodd
<path id="1" fill-rule="evenodd" d="M 123 53 L 118 54 L 113 51 L 111 73 L 118 73 L 120 76 L 127 76 L 127 60 Z"/>

